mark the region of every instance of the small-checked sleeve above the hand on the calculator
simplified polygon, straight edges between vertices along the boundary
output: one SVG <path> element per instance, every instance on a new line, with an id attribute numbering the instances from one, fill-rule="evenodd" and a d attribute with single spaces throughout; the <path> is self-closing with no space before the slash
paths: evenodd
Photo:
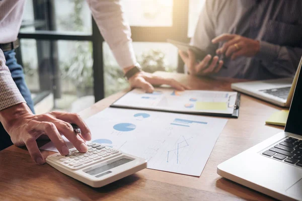
<path id="1" fill-rule="evenodd" d="M 0 111 L 20 103 L 25 103 L 5 63 L 4 53 L 0 49 Z"/>

